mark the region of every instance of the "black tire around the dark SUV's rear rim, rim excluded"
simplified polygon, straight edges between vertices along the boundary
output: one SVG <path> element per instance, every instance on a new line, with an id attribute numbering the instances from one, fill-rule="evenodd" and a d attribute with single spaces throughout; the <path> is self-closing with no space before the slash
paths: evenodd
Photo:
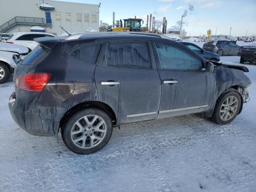
<path id="1" fill-rule="evenodd" d="M 75 122 L 77 120 L 79 120 L 80 118 L 82 118 L 86 115 L 97 115 L 106 122 L 106 135 L 105 135 L 104 139 L 97 146 L 89 148 L 89 149 L 79 148 L 72 142 L 72 138 L 71 138 L 71 130 L 72 130 L 73 125 L 75 124 Z M 100 109 L 97 109 L 97 108 L 86 108 L 84 110 L 80 110 L 80 111 L 74 113 L 67 120 L 67 122 L 65 123 L 63 128 L 61 128 L 61 136 L 62 136 L 62 140 L 63 140 L 64 144 L 70 151 L 72 151 L 76 154 L 84 155 L 84 154 L 94 153 L 94 152 L 100 150 L 101 148 L 103 148 L 110 140 L 110 137 L 112 135 L 112 130 L 113 130 L 112 121 L 111 121 L 110 117 L 108 116 L 108 114 L 106 114 L 106 112 L 104 112 Z"/>

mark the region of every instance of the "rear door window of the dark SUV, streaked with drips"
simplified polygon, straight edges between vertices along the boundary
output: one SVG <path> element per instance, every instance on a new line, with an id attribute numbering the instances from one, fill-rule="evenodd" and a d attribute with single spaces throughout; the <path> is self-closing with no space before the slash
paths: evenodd
<path id="1" fill-rule="evenodd" d="M 103 65 L 116 68 L 152 69 L 148 43 L 108 44 Z"/>

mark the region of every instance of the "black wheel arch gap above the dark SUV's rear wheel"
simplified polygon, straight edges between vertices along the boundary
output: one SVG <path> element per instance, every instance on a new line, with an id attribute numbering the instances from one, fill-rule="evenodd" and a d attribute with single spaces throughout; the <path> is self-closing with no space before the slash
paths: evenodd
<path id="1" fill-rule="evenodd" d="M 70 116 L 72 116 L 72 114 L 74 114 L 75 112 L 78 112 L 79 110 L 86 109 L 86 108 L 98 108 L 100 110 L 103 110 L 104 112 L 106 112 L 109 115 L 113 126 L 115 126 L 117 124 L 116 113 L 108 104 L 100 102 L 100 101 L 86 101 L 86 102 L 82 102 L 80 104 L 73 106 L 64 114 L 64 116 L 62 116 L 57 132 L 66 123 L 68 118 Z"/>

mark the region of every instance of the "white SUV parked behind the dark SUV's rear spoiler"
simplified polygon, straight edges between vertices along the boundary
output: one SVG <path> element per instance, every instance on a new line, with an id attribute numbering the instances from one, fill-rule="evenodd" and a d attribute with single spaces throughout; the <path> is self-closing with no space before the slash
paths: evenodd
<path id="1" fill-rule="evenodd" d="M 38 37 L 56 37 L 50 33 L 43 32 L 18 32 L 14 33 L 8 40 L 7 43 L 19 44 L 26 46 L 30 51 L 36 48 L 38 45 L 37 42 L 34 41 L 34 38 Z"/>

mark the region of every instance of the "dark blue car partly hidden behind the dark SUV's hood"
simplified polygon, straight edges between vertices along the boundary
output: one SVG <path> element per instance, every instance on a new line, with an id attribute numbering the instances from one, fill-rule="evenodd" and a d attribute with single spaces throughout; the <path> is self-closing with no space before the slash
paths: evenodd
<path id="1" fill-rule="evenodd" d="M 180 42 L 180 43 L 186 45 L 188 48 L 190 48 L 193 51 L 197 52 L 198 54 L 200 54 L 206 60 L 220 61 L 220 56 L 218 56 L 218 54 L 216 54 L 216 53 L 205 51 L 204 49 L 200 48 L 199 46 L 197 46 L 197 45 L 195 45 L 193 43 L 188 43 L 188 42 Z"/>

